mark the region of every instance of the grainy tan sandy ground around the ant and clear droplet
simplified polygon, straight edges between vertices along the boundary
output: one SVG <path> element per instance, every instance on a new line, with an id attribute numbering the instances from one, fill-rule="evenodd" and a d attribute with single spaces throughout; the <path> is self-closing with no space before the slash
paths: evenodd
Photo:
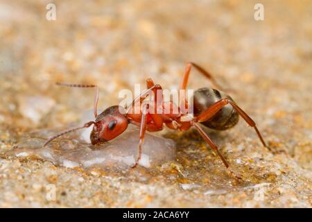
<path id="1" fill-rule="evenodd" d="M 48 21 L 49 1 L 0 1 L 0 207 L 311 207 L 311 1 L 261 1 L 263 21 L 259 1 L 54 2 Z M 86 171 L 8 154 L 92 108 L 93 90 L 55 82 L 96 83 L 103 110 L 148 77 L 178 87 L 187 61 L 216 76 L 274 150 L 242 120 L 206 129 L 243 181 L 194 130 L 164 130 L 175 160 L 150 168 Z M 191 89 L 210 87 L 191 75 Z"/>

